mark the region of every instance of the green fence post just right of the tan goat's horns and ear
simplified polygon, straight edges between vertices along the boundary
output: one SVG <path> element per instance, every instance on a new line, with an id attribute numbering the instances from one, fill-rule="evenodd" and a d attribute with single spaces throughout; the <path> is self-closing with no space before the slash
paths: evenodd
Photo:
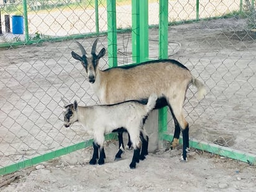
<path id="1" fill-rule="evenodd" d="M 109 66 L 117 66 L 116 0 L 107 0 L 107 52 Z"/>

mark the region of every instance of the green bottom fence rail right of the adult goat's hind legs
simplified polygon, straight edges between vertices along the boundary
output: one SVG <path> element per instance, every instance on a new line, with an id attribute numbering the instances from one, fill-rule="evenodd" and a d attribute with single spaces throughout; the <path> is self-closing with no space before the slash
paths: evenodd
<path id="1" fill-rule="evenodd" d="M 163 134 L 163 139 L 172 141 L 173 135 Z M 183 143 L 182 137 L 179 140 L 179 144 Z M 230 149 L 228 147 L 222 147 L 216 144 L 210 144 L 208 142 L 202 142 L 196 139 L 190 139 L 190 147 L 194 149 L 204 150 L 209 153 L 221 155 L 223 157 L 232 158 L 241 162 L 249 163 L 250 165 L 256 165 L 256 155 L 251 153 L 240 152 L 239 150 Z"/>

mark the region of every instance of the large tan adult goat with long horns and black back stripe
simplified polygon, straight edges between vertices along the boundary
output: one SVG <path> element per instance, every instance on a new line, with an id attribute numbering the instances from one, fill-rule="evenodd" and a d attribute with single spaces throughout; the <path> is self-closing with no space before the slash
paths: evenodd
<path id="1" fill-rule="evenodd" d="M 98 39 L 93 43 L 91 55 L 78 42 L 82 56 L 75 52 L 71 55 L 79 60 L 86 71 L 96 96 L 102 104 L 113 104 L 131 99 L 148 99 L 151 93 L 158 96 L 155 109 L 168 106 L 175 123 L 175 132 L 171 149 L 178 145 L 180 131 L 183 134 L 183 155 L 186 160 L 189 150 L 189 128 L 183 113 L 186 91 L 192 84 L 198 89 L 198 99 L 206 94 L 203 83 L 194 78 L 190 70 L 176 60 L 152 60 L 139 65 L 124 65 L 99 70 L 99 59 L 106 53 L 105 48 L 96 54 Z M 119 133 L 119 139 L 122 135 Z M 122 144 L 123 145 L 123 144 Z M 120 147 L 120 146 L 119 146 Z"/>

